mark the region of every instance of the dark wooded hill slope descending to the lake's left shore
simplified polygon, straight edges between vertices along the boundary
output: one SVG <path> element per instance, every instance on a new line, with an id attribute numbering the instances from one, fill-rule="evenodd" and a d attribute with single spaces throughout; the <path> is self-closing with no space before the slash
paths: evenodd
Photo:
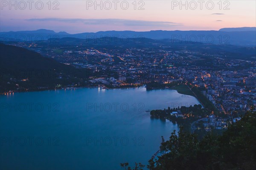
<path id="1" fill-rule="evenodd" d="M 0 92 L 60 88 L 79 83 L 80 70 L 34 51 L 0 44 Z M 86 74 L 86 71 L 85 71 Z"/>

